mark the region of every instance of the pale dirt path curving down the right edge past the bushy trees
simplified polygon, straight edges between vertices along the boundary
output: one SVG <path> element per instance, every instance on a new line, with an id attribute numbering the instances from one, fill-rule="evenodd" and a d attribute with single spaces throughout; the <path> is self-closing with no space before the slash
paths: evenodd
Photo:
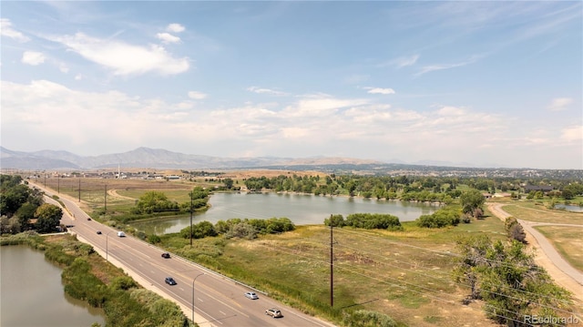
<path id="1" fill-rule="evenodd" d="M 502 209 L 504 203 L 486 203 L 488 209 L 500 220 L 504 221 L 510 217 L 508 212 Z M 570 266 L 548 240 L 537 230 L 533 229 L 530 221 L 518 220 L 527 233 L 528 248 L 534 250 L 535 261 L 545 268 L 550 277 L 558 285 L 573 293 L 573 299 L 577 301 L 579 307 L 583 308 L 583 274 Z M 535 223 L 537 224 L 537 223 Z M 541 225 L 550 225 L 541 223 Z M 570 269 L 568 269 L 568 267 Z M 566 272 L 567 271 L 567 272 Z"/>

